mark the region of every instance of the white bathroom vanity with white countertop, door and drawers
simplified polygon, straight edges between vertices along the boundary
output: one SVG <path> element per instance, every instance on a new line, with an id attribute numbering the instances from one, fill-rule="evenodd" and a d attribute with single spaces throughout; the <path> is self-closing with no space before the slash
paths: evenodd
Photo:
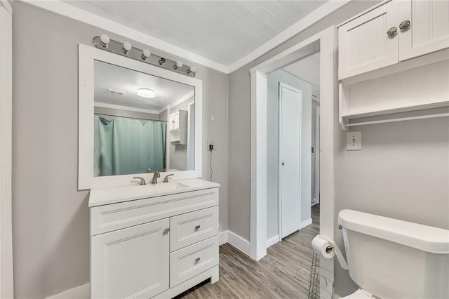
<path id="1" fill-rule="evenodd" d="M 184 181 L 91 190 L 91 298 L 172 298 L 218 280 L 219 185 Z"/>

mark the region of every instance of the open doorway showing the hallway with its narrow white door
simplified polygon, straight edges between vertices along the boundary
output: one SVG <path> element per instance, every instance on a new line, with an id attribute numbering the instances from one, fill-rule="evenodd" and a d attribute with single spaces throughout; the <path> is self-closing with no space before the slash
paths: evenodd
<path id="1" fill-rule="evenodd" d="M 319 58 L 267 74 L 267 248 L 290 234 L 309 242 L 319 234 L 319 206 L 311 208 L 319 204 Z"/>

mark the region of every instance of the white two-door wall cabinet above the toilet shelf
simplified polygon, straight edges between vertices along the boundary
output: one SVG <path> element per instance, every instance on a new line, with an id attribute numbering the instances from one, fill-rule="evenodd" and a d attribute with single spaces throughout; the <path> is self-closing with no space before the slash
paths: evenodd
<path id="1" fill-rule="evenodd" d="M 346 79 L 449 48 L 449 1 L 386 1 L 338 33 L 339 79 Z"/>

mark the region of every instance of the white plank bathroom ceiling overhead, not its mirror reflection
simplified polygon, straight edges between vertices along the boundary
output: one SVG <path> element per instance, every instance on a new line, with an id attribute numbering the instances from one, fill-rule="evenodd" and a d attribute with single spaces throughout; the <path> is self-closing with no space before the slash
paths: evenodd
<path id="1" fill-rule="evenodd" d="M 222 65 L 232 65 L 326 0 L 65 2 Z"/>

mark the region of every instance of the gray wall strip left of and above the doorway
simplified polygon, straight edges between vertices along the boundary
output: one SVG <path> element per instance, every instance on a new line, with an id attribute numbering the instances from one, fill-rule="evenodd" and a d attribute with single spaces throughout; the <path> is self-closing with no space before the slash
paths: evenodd
<path id="1" fill-rule="evenodd" d="M 380 1 L 351 1 L 292 39 L 229 74 L 229 230 L 250 239 L 250 69 Z"/>

